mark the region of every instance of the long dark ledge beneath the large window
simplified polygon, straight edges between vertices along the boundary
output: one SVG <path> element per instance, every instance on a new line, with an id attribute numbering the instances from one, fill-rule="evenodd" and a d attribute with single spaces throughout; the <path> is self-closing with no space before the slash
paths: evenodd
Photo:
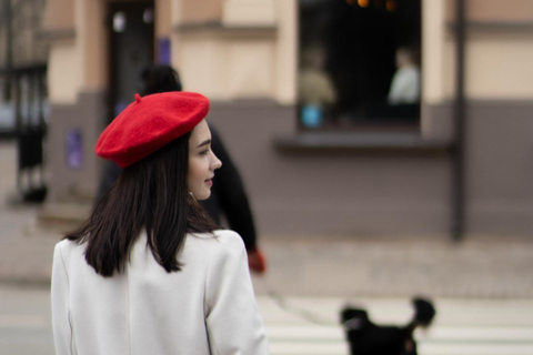
<path id="1" fill-rule="evenodd" d="M 445 155 L 452 150 L 446 141 L 423 140 L 413 133 L 301 133 L 279 136 L 274 148 L 285 154 L 384 153 Z"/>

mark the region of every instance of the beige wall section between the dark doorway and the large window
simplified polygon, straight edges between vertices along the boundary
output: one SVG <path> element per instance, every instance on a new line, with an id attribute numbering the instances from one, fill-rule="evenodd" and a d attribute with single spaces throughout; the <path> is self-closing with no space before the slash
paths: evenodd
<path id="1" fill-rule="evenodd" d="M 192 22 L 185 3 L 173 3 L 173 27 L 181 30 L 172 34 L 172 65 L 180 70 L 187 90 L 211 100 L 294 103 L 295 0 L 227 1 L 219 27 L 192 30 L 183 29 Z M 251 18 L 263 20 L 250 22 Z"/>

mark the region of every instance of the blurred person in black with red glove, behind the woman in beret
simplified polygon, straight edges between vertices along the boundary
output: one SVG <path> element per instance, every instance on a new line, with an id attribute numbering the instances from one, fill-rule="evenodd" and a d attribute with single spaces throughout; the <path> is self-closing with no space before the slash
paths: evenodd
<path id="1" fill-rule="evenodd" d="M 152 64 L 144 68 L 141 72 L 141 95 L 182 91 L 178 72 L 169 65 Z M 242 236 L 247 246 L 250 270 L 262 274 L 266 270 L 266 263 L 263 253 L 257 245 L 255 225 L 241 176 L 222 144 L 217 130 L 211 124 L 209 128 L 212 139 L 211 149 L 222 162 L 222 168 L 217 171 L 217 175 L 213 179 L 211 197 L 201 201 L 201 203 L 217 224 L 221 224 L 221 216 L 223 215 L 228 221 L 229 227 Z M 97 202 L 111 189 L 121 172 L 122 169 L 119 165 L 111 161 L 105 161 L 97 192 Z"/>

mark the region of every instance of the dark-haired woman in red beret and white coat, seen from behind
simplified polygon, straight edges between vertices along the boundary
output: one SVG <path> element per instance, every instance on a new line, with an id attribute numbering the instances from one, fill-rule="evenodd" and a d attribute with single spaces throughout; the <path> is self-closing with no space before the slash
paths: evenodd
<path id="1" fill-rule="evenodd" d="M 197 202 L 221 166 L 208 110 L 200 94 L 135 95 L 100 136 L 124 170 L 56 246 L 57 354 L 268 354 L 243 242 Z"/>

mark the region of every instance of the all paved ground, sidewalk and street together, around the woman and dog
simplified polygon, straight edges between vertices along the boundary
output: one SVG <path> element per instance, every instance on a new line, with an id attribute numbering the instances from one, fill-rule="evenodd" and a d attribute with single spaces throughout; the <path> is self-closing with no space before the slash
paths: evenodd
<path id="1" fill-rule="evenodd" d="M 0 355 L 53 354 L 49 282 L 58 229 L 16 202 L 16 148 L 0 141 Z M 438 318 L 420 354 L 533 354 L 533 237 L 261 235 L 269 270 L 253 276 L 273 355 L 348 354 L 339 310 L 402 324 L 409 298 Z"/>

